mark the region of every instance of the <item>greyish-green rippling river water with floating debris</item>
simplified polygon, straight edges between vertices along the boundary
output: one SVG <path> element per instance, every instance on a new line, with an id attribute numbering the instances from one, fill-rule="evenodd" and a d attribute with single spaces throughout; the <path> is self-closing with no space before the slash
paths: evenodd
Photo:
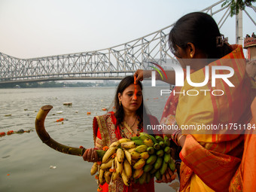
<path id="1" fill-rule="evenodd" d="M 90 175 L 92 163 L 44 145 L 35 132 L 35 117 L 41 106 L 53 105 L 45 120 L 50 136 L 64 145 L 92 148 L 93 117 L 106 113 L 102 108 L 109 108 L 115 89 L 0 89 L 0 132 L 32 130 L 0 138 L 0 191 L 96 191 L 95 178 Z M 161 97 L 159 90 L 150 88 L 143 94 L 151 114 L 160 119 L 166 96 Z M 63 102 L 72 102 L 72 106 Z M 59 111 L 62 113 L 57 113 Z M 59 118 L 65 120 L 56 122 Z M 156 191 L 175 191 L 167 184 L 156 184 L 155 188 Z"/>

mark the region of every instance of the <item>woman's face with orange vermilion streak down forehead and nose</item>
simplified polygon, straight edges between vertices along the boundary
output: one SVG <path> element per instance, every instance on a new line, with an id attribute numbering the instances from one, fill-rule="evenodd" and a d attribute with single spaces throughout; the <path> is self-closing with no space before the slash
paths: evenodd
<path id="1" fill-rule="evenodd" d="M 135 93 L 135 90 L 137 93 Z M 123 90 L 123 93 L 118 93 L 118 99 L 123 105 L 124 111 L 134 112 L 142 105 L 142 89 L 139 84 L 130 84 Z"/>

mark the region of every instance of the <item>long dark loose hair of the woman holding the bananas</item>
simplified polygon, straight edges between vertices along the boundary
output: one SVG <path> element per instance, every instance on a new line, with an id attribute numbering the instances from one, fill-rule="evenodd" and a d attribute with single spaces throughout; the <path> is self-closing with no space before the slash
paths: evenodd
<path id="1" fill-rule="evenodd" d="M 124 111 L 123 111 L 123 105 L 119 104 L 118 99 L 118 93 L 123 94 L 123 91 L 129 87 L 131 84 L 134 84 L 134 78 L 133 76 L 127 76 L 120 81 L 120 84 L 117 87 L 117 91 L 114 96 L 114 107 L 116 109 L 115 111 L 115 117 L 117 118 L 117 125 L 120 125 L 123 122 L 124 118 Z M 142 89 L 142 84 L 139 81 L 138 82 L 139 87 Z M 139 117 L 139 128 L 142 128 L 143 126 L 143 111 L 145 110 L 145 105 L 143 103 L 143 96 L 142 96 L 142 105 L 139 106 L 139 108 L 136 111 L 136 114 Z"/>

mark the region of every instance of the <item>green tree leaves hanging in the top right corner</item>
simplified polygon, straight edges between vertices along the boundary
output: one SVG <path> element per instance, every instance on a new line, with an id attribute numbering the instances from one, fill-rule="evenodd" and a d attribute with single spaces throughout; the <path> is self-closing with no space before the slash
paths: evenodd
<path id="1" fill-rule="evenodd" d="M 230 5 L 230 16 L 233 17 L 233 15 L 239 14 L 240 10 L 245 10 L 245 6 L 251 7 L 253 2 L 256 2 L 256 0 L 226 0 L 221 7 Z"/>

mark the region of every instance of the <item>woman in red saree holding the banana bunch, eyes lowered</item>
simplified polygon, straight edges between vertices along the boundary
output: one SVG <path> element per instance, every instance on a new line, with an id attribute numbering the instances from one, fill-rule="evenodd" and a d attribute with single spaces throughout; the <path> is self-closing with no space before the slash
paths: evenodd
<path id="1" fill-rule="evenodd" d="M 95 149 L 109 146 L 118 139 L 130 139 L 143 132 L 146 124 L 159 124 L 156 117 L 144 114 L 145 106 L 142 98 L 142 84 L 134 84 L 133 76 L 127 76 L 120 81 L 114 97 L 115 111 L 108 112 L 93 119 L 93 140 Z M 84 160 L 96 162 L 98 160 L 96 151 L 88 149 L 83 155 Z M 102 191 L 154 191 L 154 178 L 148 184 L 131 184 L 127 187 L 120 178 L 112 184 L 103 184 Z"/>

